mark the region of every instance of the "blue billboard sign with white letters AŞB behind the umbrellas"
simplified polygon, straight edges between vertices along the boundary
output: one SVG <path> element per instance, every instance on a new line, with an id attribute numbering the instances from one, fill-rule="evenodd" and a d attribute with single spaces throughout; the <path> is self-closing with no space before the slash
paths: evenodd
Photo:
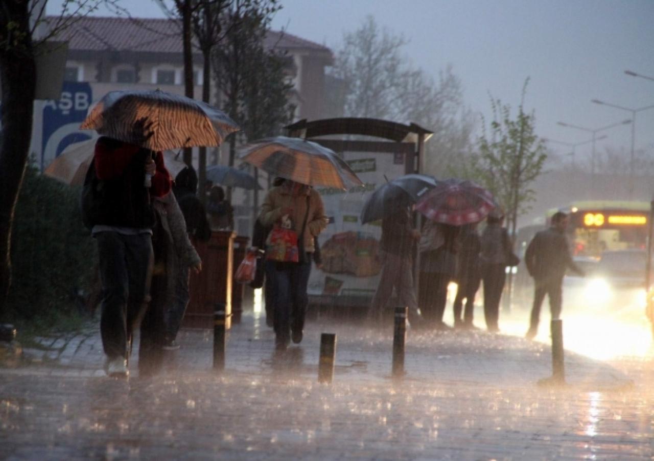
<path id="1" fill-rule="evenodd" d="M 64 82 L 60 100 L 45 101 L 41 171 L 68 145 L 94 136 L 93 132 L 79 129 L 92 101 L 93 92 L 88 82 Z"/>

